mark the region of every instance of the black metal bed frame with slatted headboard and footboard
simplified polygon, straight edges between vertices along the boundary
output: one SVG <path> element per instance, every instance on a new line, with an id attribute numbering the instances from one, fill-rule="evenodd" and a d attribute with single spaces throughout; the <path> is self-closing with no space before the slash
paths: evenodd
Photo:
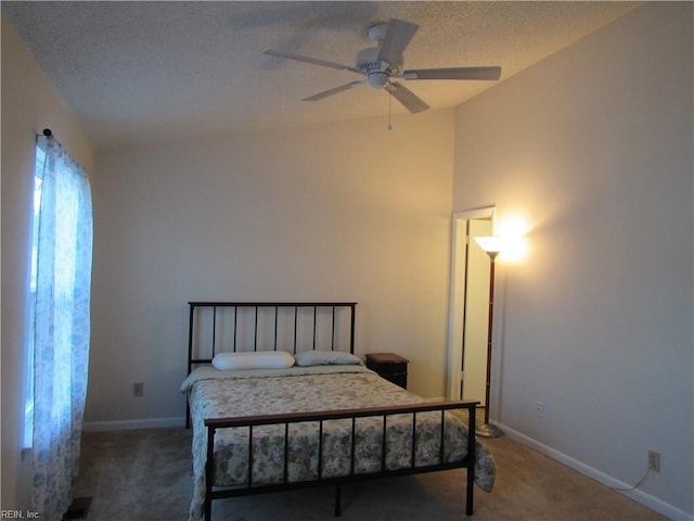
<path id="1" fill-rule="evenodd" d="M 355 312 L 356 305 L 355 302 L 189 302 L 190 305 L 190 326 L 189 326 L 189 356 L 188 356 L 188 369 L 189 373 L 192 370 L 192 367 L 200 364 L 209 364 L 211 361 L 211 357 L 202 357 L 198 358 L 194 354 L 195 347 L 195 310 L 200 308 L 211 308 L 213 318 L 211 318 L 211 353 L 213 357 L 217 350 L 217 310 L 218 308 L 232 308 L 233 309 L 233 333 L 232 333 L 232 350 L 224 351 L 236 351 L 236 335 L 237 335 L 237 312 L 239 308 L 250 308 L 255 309 L 254 317 L 254 333 L 253 333 L 253 351 L 269 351 L 278 348 L 278 315 L 279 309 L 284 308 L 294 308 L 294 343 L 293 350 L 296 353 L 297 350 L 297 316 L 298 310 L 300 308 L 313 308 L 313 341 L 312 348 L 317 348 L 317 323 L 318 323 L 318 309 L 319 308 L 327 308 L 332 309 L 332 326 L 331 326 L 331 350 L 335 348 L 335 336 L 336 336 L 336 310 L 340 308 L 347 308 L 350 313 L 349 316 L 349 332 L 348 332 L 348 345 L 349 352 L 354 354 L 355 350 Z M 266 348 L 258 350 L 258 309 L 259 308 L 274 308 L 274 341 L 272 346 L 266 346 Z M 308 486 L 335 486 L 335 504 L 334 504 L 334 512 L 335 516 L 338 517 L 340 514 L 340 500 L 342 500 L 342 485 L 345 483 L 356 482 L 356 481 L 364 481 L 370 479 L 380 479 L 387 476 L 397 476 L 397 475 L 408 475 L 408 474 L 417 474 L 425 472 L 434 472 L 440 470 L 450 470 L 457 468 L 466 469 L 466 486 L 465 486 L 465 513 L 471 516 L 473 513 L 473 498 L 474 498 L 474 480 L 475 480 L 475 410 L 479 402 L 474 401 L 457 401 L 457 402 L 439 402 L 439 403 L 425 403 L 425 404 L 416 404 L 416 405 L 406 405 L 406 406 L 389 406 L 389 407 L 370 407 L 370 408 L 360 408 L 360 409 L 343 409 L 343 410 L 326 410 L 326 411 L 307 411 L 307 412 L 296 412 L 296 414 L 283 414 L 283 415 L 260 415 L 253 417 L 241 417 L 241 418 L 207 418 L 205 419 L 205 428 L 207 429 L 207 460 L 205 463 L 205 474 L 206 474 L 206 494 L 205 494 L 205 519 L 207 521 L 211 520 L 211 501 L 214 499 L 228 498 L 228 497 L 237 497 L 244 495 L 254 495 L 254 494 L 264 494 L 270 492 L 279 492 L 285 490 L 293 488 L 301 488 Z M 466 409 L 468 416 L 467 423 L 467 454 L 460 461 L 446 462 L 444 460 L 445 446 L 444 446 L 444 428 L 445 428 L 445 414 L 447 410 L 451 409 Z M 403 469 L 397 470 L 388 470 L 386 469 L 386 424 L 387 418 L 391 415 L 412 415 L 412 440 L 415 440 L 416 435 L 416 416 L 421 412 L 430 412 L 430 411 L 440 411 L 441 421 L 440 421 L 440 454 L 439 454 L 439 462 L 435 465 L 415 466 L 415 444 L 412 443 L 411 454 L 410 454 L 410 466 Z M 357 418 L 367 418 L 367 417 L 382 417 L 383 418 L 383 433 L 382 433 L 382 461 L 381 461 L 381 470 L 369 473 L 355 473 L 355 429 L 356 429 L 356 420 Z M 323 439 L 323 422 L 329 420 L 351 420 L 351 447 L 350 447 L 350 473 L 348 475 L 338 476 L 338 478 L 322 478 L 321 469 L 322 469 L 322 439 Z M 301 482 L 291 482 L 288 481 L 287 475 L 287 460 L 288 460 L 288 428 L 292 423 L 305 422 L 305 421 L 316 421 L 319 424 L 319 449 L 318 449 L 318 478 L 310 481 L 301 481 Z M 269 424 L 279 424 L 284 425 L 285 434 L 285 449 L 284 449 L 284 479 L 281 483 L 275 484 L 254 484 L 253 483 L 253 435 L 254 435 L 254 427 L 258 425 L 269 425 Z M 187 404 L 187 427 L 190 425 L 190 405 Z M 246 484 L 219 488 L 214 486 L 214 475 L 215 475 L 215 458 L 214 458 L 214 446 L 215 446 L 215 434 L 219 429 L 227 428 L 248 428 L 249 436 L 248 436 L 248 481 Z"/>

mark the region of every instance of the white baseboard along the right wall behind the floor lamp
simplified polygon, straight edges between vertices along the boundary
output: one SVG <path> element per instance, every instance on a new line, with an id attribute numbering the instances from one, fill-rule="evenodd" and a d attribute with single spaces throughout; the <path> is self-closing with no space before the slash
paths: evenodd
<path id="1" fill-rule="evenodd" d="M 549 447 L 538 442 L 537 440 L 526 436 L 525 434 L 518 431 L 514 431 L 510 427 L 506 427 L 498 422 L 492 422 L 492 423 L 494 423 L 501 430 L 503 430 L 503 432 L 512 440 L 515 440 L 516 442 L 522 443 L 523 445 L 534 448 L 535 450 L 542 453 L 545 456 L 549 456 L 550 458 L 563 465 L 566 465 L 567 467 L 576 470 L 577 472 L 580 472 L 583 475 L 587 475 L 588 478 L 591 478 L 602 483 L 605 486 L 608 486 L 611 488 L 629 488 L 631 486 L 630 484 L 619 481 L 608 474 L 605 474 L 604 472 L 601 472 L 597 469 L 593 469 L 592 467 L 589 467 L 588 465 L 577 459 L 574 459 L 564 453 L 561 453 L 552 447 Z M 673 519 L 677 521 L 694 521 L 693 514 L 687 513 L 683 510 L 680 510 L 679 508 L 668 503 L 665 503 L 658 499 L 657 497 L 646 494 L 645 492 L 640 491 L 638 488 L 633 491 L 628 491 L 628 492 L 622 492 L 622 491 L 617 491 L 617 492 L 670 519 Z"/>

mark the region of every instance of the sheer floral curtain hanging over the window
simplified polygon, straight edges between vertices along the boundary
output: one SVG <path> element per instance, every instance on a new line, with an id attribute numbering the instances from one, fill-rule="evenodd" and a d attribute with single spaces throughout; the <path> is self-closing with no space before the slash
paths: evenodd
<path id="1" fill-rule="evenodd" d="M 87 173 L 54 138 L 46 150 L 34 322 L 33 508 L 61 520 L 72 503 L 87 396 L 92 212 Z"/>

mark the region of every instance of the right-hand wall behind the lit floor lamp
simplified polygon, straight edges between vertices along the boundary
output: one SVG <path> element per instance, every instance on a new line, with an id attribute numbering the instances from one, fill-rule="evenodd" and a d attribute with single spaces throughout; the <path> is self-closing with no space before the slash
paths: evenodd
<path id="1" fill-rule="evenodd" d="M 693 4 L 643 8 L 457 110 L 453 207 L 523 214 L 492 417 L 694 513 Z M 544 404 L 541 418 L 536 402 Z M 686 513 L 685 513 L 686 512 Z"/>

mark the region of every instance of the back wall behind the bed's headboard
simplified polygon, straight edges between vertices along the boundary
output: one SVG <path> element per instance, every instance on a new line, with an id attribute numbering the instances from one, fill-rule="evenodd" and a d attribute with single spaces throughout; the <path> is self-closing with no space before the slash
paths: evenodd
<path id="1" fill-rule="evenodd" d="M 452 144 L 449 110 L 99 153 L 86 421 L 183 415 L 191 300 L 357 301 L 357 353 L 444 396 Z"/>

